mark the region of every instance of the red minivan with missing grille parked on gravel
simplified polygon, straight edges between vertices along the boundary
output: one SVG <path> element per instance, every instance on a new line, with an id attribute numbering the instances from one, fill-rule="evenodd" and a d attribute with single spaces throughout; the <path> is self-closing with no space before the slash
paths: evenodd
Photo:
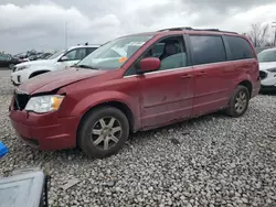
<path id="1" fill-rule="evenodd" d="M 242 116 L 261 88 L 251 42 L 219 30 L 166 29 L 110 41 L 74 67 L 14 91 L 18 137 L 40 150 L 119 151 L 129 132 L 224 110 Z"/>

